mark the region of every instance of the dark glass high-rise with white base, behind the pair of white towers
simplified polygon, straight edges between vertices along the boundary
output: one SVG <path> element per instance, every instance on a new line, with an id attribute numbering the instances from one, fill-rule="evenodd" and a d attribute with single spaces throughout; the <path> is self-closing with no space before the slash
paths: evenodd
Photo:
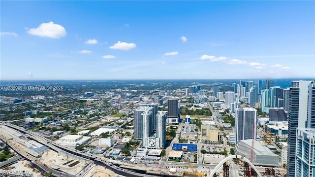
<path id="1" fill-rule="evenodd" d="M 169 98 L 167 101 L 168 124 L 178 124 L 180 118 L 180 103 L 178 98 Z"/>

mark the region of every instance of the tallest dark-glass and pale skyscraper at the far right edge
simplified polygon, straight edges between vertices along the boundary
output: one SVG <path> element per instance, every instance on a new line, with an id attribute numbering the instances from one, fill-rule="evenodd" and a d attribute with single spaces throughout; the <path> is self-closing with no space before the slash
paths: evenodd
<path id="1" fill-rule="evenodd" d="M 289 90 L 286 177 L 295 177 L 297 128 L 305 128 L 308 115 L 308 91 L 311 81 L 292 81 Z"/>

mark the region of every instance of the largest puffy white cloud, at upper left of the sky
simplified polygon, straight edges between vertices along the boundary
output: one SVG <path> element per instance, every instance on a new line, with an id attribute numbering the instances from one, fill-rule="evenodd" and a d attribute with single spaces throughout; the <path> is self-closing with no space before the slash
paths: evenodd
<path id="1" fill-rule="evenodd" d="M 37 28 L 31 28 L 28 33 L 30 35 L 51 37 L 56 39 L 59 39 L 66 35 L 64 27 L 58 24 L 54 24 L 54 22 L 42 23 Z"/>

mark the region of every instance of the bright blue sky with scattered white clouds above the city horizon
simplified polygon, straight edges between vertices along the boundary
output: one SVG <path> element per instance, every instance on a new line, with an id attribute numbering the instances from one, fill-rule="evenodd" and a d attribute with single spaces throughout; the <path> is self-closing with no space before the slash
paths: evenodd
<path id="1" fill-rule="evenodd" d="M 0 78 L 315 77 L 315 1 L 0 1 Z"/>

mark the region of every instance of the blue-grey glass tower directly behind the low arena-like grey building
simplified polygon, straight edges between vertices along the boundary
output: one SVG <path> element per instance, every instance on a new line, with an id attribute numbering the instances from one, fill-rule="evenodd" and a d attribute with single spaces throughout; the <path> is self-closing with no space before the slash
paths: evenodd
<path id="1" fill-rule="evenodd" d="M 252 139 L 256 137 L 257 110 L 254 108 L 237 108 L 235 116 L 235 141 Z M 253 136 L 254 133 L 254 136 Z"/>

